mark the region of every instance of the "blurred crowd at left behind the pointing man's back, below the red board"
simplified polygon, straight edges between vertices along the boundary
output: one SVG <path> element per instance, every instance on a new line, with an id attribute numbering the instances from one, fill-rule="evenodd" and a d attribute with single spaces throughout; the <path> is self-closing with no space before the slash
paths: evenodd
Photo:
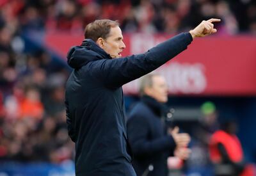
<path id="1" fill-rule="evenodd" d="M 0 43 L 2 45 L 2 43 Z M 46 52 L 0 51 L 0 161 L 51 161 L 74 156 L 67 134 L 64 84 Z"/>

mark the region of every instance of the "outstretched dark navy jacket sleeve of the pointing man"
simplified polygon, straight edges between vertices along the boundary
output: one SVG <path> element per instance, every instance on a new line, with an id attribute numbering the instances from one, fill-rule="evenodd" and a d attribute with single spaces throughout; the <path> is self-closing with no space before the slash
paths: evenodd
<path id="1" fill-rule="evenodd" d="M 112 60 L 92 61 L 91 74 L 106 86 L 117 88 L 160 67 L 180 52 L 187 49 L 193 40 L 190 33 L 181 33 L 156 45 L 143 54 Z"/>

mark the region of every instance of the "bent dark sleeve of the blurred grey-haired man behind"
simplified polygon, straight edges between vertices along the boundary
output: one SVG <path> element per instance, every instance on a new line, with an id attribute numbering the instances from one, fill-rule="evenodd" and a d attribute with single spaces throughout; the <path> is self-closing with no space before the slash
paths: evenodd
<path id="1" fill-rule="evenodd" d="M 157 154 L 175 148 L 172 136 L 166 135 L 154 140 L 148 140 L 149 128 L 143 116 L 134 115 L 127 121 L 127 134 L 132 153 L 136 156 Z"/>

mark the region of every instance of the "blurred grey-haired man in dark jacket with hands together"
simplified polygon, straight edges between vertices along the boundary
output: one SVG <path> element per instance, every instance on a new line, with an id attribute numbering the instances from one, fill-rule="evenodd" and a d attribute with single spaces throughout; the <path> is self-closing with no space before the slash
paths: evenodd
<path id="1" fill-rule="evenodd" d="M 166 176 L 167 158 L 175 156 L 186 159 L 190 150 L 190 137 L 178 133 L 177 127 L 167 130 L 165 117 L 168 108 L 168 86 L 163 76 L 147 74 L 141 79 L 141 101 L 132 108 L 127 121 L 127 134 L 131 143 L 134 160 L 132 165 L 137 175 Z M 148 166 L 154 170 L 149 172 Z"/>

